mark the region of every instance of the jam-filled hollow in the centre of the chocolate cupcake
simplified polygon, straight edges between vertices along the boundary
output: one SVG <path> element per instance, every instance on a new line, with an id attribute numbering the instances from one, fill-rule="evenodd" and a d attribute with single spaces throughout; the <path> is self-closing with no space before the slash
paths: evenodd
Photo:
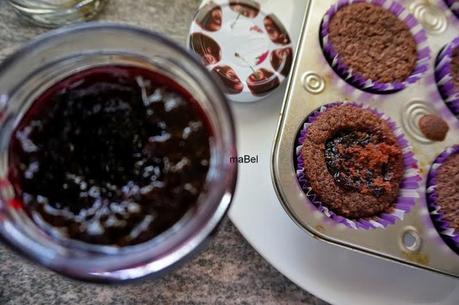
<path id="1" fill-rule="evenodd" d="M 325 162 L 335 182 L 363 194 L 382 196 L 391 188 L 392 158 L 398 146 L 381 141 L 368 131 L 343 130 L 325 143 Z"/>

